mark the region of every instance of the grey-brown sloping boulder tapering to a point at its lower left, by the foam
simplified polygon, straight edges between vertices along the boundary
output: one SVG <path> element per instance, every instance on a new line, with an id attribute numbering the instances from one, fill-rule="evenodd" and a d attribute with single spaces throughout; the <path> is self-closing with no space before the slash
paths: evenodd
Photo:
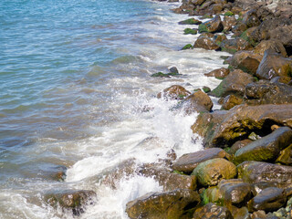
<path id="1" fill-rule="evenodd" d="M 218 87 L 210 92 L 210 95 L 217 98 L 226 97 L 230 94 L 233 94 L 236 97 L 243 97 L 245 94 L 245 86 L 254 81 L 255 78 L 251 75 L 240 69 L 236 69 L 229 73 Z"/>

